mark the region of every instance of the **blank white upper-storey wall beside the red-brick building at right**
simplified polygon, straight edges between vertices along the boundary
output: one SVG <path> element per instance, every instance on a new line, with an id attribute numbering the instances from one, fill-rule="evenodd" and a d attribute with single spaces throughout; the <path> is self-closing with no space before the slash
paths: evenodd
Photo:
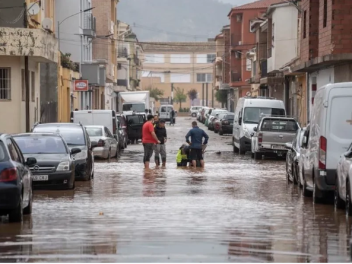
<path id="1" fill-rule="evenodd" d="M 274 10 L 272 15 L 274 24 L 274 47 L 270 60 L 272 65 L 268 65 L 268 71 L 269 69 L 278 70 L 297 57 L 297 19 L 298 10 L 292 5 L 277 7 Z"/>

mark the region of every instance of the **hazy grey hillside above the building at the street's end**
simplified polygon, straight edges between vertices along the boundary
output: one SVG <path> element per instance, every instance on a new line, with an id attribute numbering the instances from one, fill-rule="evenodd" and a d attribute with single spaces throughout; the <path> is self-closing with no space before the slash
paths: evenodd
<path id="1" fill-rule="evenodd" d="M 120 0 L 118 19 L 141 41 L 204 41 L 229 24 L 230 10 L 218 0 Z"/>

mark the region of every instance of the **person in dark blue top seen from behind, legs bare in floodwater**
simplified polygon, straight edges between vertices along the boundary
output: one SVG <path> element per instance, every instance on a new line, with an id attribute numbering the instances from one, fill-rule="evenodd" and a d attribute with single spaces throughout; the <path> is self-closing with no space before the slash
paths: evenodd
<path id="1" fill-rule="evenodd" d="M 191 138 L 191 141 L 189 141 L 189 138 Z M 186 142 L 191 146 L 190 160 L 194 168 L 197 166 L 197 160 L 200 161 L 201 167 L 204 168 L 203 146 L 208 144 L 208 139 L 209 136 L 198 127 L 196 121 L 193 121 L 192 129 L 186 135 Z"/>

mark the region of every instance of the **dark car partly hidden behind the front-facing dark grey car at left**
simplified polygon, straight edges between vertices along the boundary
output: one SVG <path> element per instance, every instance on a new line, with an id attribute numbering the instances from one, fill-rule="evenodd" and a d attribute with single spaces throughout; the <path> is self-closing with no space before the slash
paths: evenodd
<path id="1" fill-rule="evenodd" d="M 94 177 L 94 156 L 89 135 L 82 124 L 46 123 L 35 124 L 34 133 L 59 133 L 66 141 L 70 151 L 79 148 L 81 152 L 75 158 L 75 179 L 90 181 Z"/>

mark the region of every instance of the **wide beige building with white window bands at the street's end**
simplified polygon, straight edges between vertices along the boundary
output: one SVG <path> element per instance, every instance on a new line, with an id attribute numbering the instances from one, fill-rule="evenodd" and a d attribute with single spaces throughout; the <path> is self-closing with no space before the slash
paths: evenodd
<path id="1" fill-rule="evenodd" d="M 175 102 L 175 91 L 183 90 L 187 95 L 191 89 L 198 94 L 195 100 L 188 96 L 182 108 L 191 105 L 217 106 L 213 89 L 213 63 L 216 59 L 214 39 L 207 42 L 154 42 L 142 44 L 143 73 L 141 88 L 158 88 L 163 91 L 160 104 Z"/>

